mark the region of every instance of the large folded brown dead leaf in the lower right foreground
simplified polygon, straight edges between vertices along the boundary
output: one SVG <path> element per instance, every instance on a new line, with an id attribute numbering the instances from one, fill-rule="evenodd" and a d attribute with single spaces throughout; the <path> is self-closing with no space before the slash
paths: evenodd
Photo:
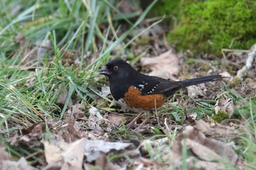
<path id="1" fill-rule="evenodd" d="M 192 156 L 187 155 L 186 157 L 188 169 L 223 170 L 225 163 L 232 167 L 242 164 L 241 159 L 233 150 L 232 144 L 209 139 L 194 127 L 187 126 L 173 142 L 169 154 L 163 156 L 162 159 L 169 167 L 181 169 L 183 164 L 182 148 L 186 147 L 192 152 Z"/>

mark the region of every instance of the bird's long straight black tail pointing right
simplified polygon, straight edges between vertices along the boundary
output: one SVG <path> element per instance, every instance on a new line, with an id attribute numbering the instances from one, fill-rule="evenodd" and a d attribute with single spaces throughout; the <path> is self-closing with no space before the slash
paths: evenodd
<path id="1" fill-rule="evenodd" d="M 222 79 L 223 77 L 221 75 L 211 75 L 211 76 L 197 77 L 194 79 L 178 81 L 177 83 L 182 84 L 182 87 L 185 88 L 191 85 L 198 85 L 204 82 L 212 82 L 212 81 L 222 80 Z"/>

